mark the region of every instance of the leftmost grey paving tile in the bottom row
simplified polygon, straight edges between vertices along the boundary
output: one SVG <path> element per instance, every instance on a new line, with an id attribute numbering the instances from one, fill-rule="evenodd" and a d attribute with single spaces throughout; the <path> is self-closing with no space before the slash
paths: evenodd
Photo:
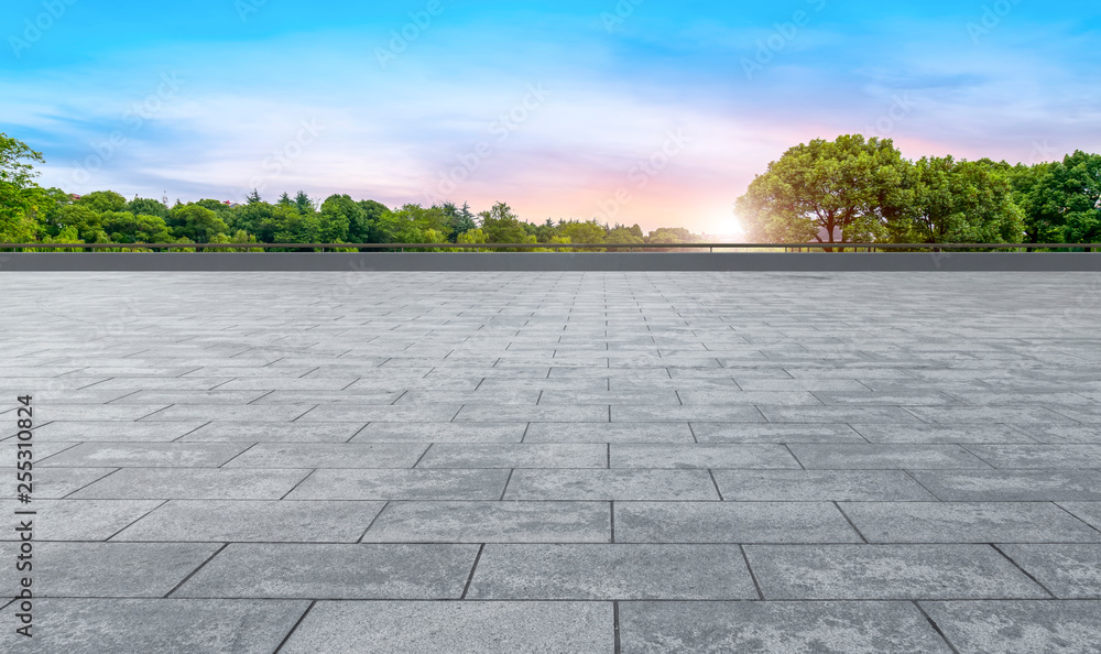
<path id="1" fill-rule="evenodd" d="M 33 639 L 6 629 L 0 632 L 0 648 L 270 654 L 308 607 L 308 601 L 287 600 L 42 599 L 34 602 Z M 6 622 L 15 623 L 12 606 L 0 613 Z"/>

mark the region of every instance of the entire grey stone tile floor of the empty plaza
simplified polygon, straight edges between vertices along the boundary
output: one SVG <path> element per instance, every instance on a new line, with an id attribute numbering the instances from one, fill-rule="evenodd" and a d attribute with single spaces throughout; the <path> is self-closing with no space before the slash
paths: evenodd
<path id="1" fill-rule="evenodd" d="M 4 652 L 1101 652 L 1099 275 L 0 297 Z"/>

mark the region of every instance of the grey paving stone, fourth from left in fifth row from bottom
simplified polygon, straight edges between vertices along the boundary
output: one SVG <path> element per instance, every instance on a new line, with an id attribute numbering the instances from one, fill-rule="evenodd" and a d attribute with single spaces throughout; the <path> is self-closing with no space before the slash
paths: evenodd
<path id="1" fill-rule="evenodd" d="M 607 468 L 597 444 L 434 444 L 417 468 Z"/>

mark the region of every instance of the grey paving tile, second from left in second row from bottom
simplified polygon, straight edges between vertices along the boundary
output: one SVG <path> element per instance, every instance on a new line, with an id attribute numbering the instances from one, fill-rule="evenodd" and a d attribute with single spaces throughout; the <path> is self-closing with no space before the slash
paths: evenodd
<path id="1" fill-rule="evenodd" d="M 230 544 L 173 597 L 458 599 L 478 545 Z"/>

